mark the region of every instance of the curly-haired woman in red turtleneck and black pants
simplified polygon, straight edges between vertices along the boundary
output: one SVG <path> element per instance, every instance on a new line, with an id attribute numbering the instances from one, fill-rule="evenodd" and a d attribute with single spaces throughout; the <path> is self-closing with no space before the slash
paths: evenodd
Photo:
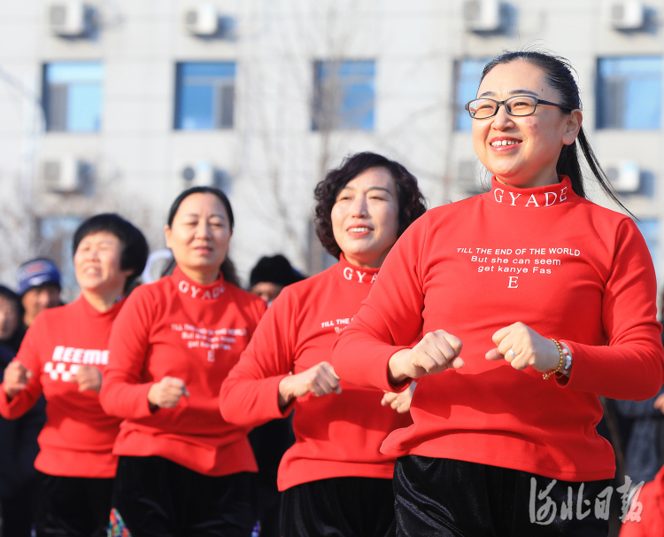
<path id="1" fill-rule="evenodd" d="M 220 393 L 221 415 L 243 426 L 288 416 L 295 445 L 282 458 L 284 537 L 394 534 L 394 458 L 382 440 L 410 424 L 409 397 L 338 382 L 332 343 L 367 298 L 397 237 L 425 207 L 405 167 L 359 153 L 316 188 L 320 242 L 339 262 L 286 287 Z M 414 339 L 414 338 L 413 338 Z M 389 408 L 405 402 L 400 410 Z"/>

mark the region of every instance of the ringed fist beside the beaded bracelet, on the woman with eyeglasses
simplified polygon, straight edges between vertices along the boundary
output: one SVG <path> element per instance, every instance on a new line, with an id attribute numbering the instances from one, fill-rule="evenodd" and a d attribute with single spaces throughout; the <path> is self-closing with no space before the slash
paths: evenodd
<path id="1" fill-rule="evenodd" d="M 524 323 L 513 323 L 501 328 L 491 339 L 497 348 L 485 354 L 487 360 L 506 360 L 515 370 L 525 370 L 532 366 L 540 373 L 555 370 L 560 364 L 556 344 Z"/>

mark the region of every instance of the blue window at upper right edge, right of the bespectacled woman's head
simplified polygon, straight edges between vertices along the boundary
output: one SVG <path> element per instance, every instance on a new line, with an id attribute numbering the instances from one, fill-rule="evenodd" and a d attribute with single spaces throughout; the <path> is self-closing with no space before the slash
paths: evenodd
<path id="1" fill-rule="evenodd" d="M 660 128 L 662 58 L 599 58 L 597 128 Z"/>

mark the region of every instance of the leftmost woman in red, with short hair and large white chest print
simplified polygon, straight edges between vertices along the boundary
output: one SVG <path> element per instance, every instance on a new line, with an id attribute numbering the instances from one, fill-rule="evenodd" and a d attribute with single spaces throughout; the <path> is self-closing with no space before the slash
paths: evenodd
<path id="1" fill-rule="evenodd" d="M 46 399 L 47 420 L 35 460 L 38 536 L 106 534 L 120 420 L 104 413 L 98 393 L 112 323 L 147 257 L 143 234 L 117 214 L 83 222 L 73 236 L 81 296 L 37 315 L 4 370 L 4 417 L 23 416 L 42 393 Z"/>

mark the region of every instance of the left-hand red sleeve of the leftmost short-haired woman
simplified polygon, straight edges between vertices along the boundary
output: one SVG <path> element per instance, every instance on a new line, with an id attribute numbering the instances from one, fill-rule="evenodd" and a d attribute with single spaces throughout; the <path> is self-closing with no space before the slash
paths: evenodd
<path id="1" fill-rule="evenodd" d="M 39 320 L 40 317 L 37 316 L 35 323 L 26 332 L 26 337 L 19 348 L 19 354 L 12 360 L 12 362 L 19 362 L 24 368 L 32 372 L 32 377 L 30 377 L 26 388 L 17 393 L 12 401 L 8 401 L 7 394 L 4 392 L 4 385 L 0 385 L 0 415 L 5 419 L 16 419 L 25 415 L 29 409 L 35 406 L 42 395 L 42 362 L 39 359 L 39 347 L 37 345 L 41 332 L 40 328 L 42 327 Z"/>

